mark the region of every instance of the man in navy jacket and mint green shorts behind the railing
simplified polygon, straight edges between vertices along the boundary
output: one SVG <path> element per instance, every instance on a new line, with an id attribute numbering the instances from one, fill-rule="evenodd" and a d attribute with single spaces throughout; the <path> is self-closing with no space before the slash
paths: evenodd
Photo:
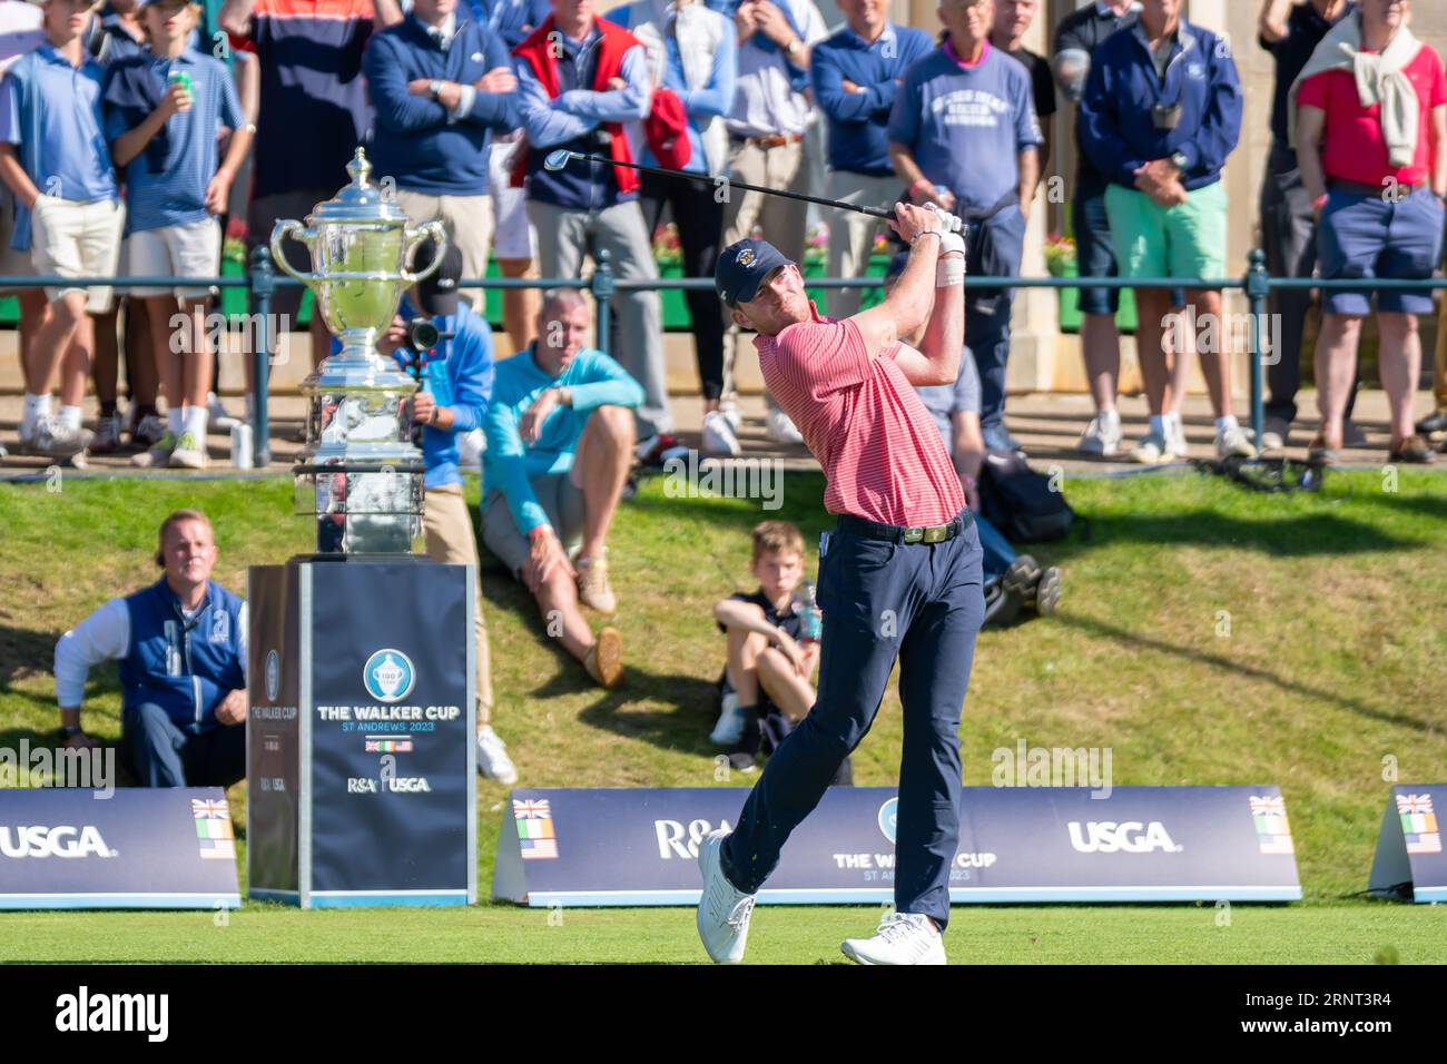
<path id="1" fill-rule="evenodd" d="M 1116 258 L 1129 278 L 1226 276 L 1226 185 L 1221 169 L 1242 129 L 1242 83 L 1230 43 L 1181 17 L 1181 0 L 1146 0 L 1134 26 L 1101 43 L 1081 100 L 1081 146 L 1110 181 L 1106 211 Z M 1221 290 L 1187 291 L 1184 318 L 1169 292 L 1137 288 L 1137 350 L 1150 430 L 1132 452 L 1142 463 L 1185 456 L 1179 400 L 1197 330 L 1215 411 L 1217 457 L 1255 455 L 1231 414 L 1230 330 Z M 1178 353 L 1166 365 L 1166 332 Z"/>

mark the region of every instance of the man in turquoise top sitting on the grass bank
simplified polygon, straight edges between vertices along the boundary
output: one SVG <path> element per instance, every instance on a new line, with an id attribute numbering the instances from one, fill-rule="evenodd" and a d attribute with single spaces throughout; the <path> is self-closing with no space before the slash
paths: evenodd
<path id="1" fill-rule="evenodd" d="M 482 540 L 537 599 L 567 651 L 605 688 L 622 675 L 622 638 L 593 636 L 579 604 L 618 609 L 608 528 L 632 465 L 642 388 L 583 346 L 587 305 L 572 288 L 544 294 L 538 339 L 496 363 L 483 457 Z"/>

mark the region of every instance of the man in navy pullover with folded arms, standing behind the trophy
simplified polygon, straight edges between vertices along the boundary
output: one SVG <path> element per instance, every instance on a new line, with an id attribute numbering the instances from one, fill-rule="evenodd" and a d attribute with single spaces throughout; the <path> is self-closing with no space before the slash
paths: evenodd
<path id="1" fill-rule="evenodd" d="M 414 223 L 441 219 L 463 276 L 480 278 L 492 243 L 489 135 L 519 123 L 506 45 L 457 0 L 415 0 L 372 38 L 362 69 L 376 109 L 378 177 L 396 182 L 396 204 Z M 473 305 L 482 300 L 480 290 L 462 291 Z"/>

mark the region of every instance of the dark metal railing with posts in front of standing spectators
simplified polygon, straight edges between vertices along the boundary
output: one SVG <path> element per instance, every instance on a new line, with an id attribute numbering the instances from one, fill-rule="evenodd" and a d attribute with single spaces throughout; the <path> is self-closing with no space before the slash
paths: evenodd
<path id="1" fill-rule="evenodd" d="M 1447 278 L 1424 281 L 1393 279 L 1344 279 L 1323 281 L 1317 278 L 1272 276 L 1266 271 L 1266 253 L 1260 249 L 1249 256 L 1249 266 L 1240 278 L 1119 278 L 1119 276 L 969 276 L 969 290 L 993 288 L 1184 288 L 1242 291 L 1250 303 L 1250 407 L 1252 431 L 1260 439 L 1265 431 L 1265 366 L 1268 301 L 1275 290 L 1323 290 L 1323 291 L 1435 291 L 1447 288 Z M 256 424 L 252 433 L 253 462 L 265 468 L 271 460 L 271 423 L 268 415 L 268 384 L 273 337 L 269 334 L 271 303 L 278 288 L 298 288 L 295 281 L 281 274 L 272 263 L 271 250 L 258 246 L 252 250 L 250 269 L 243 276 L 0 276 L 0 290 L 14 288 L 82 288 L 104 285 L 114 288 L 246 288 L 252 295 L 255 314 L 252 347 L 252 373 L 256 395 Z M 883 288 L 884 279 L 864 278 L 805 278 L 807 288 Z M 462 281 L 462 288 L 508 291 L 517 288 L 577 288 L 587 290 L 596 305 L 596 343 L 601 350 L 609 350 L 609 327 L 612 298 L 619 292 L 664 291 L 664 290 L 713 290 L 710 278 L 619 278 L 605 250 L 598 256 L 593 272 L 585 278 L 480 278 Z M 313 311 L 315 313 L 315 310 Z M 968 342 L 968 337 L 967 337 Z M 1278 353 L 1279 355 L 1279 353 Z"/>

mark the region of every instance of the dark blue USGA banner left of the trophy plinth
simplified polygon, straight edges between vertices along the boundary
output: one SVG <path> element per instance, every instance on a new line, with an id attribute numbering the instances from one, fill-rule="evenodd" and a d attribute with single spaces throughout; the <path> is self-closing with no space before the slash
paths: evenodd
<path id="1" fill-rule="evenodd" d="M 236 909 L 220 788 L 0 790 L 0 909 Z"/>

